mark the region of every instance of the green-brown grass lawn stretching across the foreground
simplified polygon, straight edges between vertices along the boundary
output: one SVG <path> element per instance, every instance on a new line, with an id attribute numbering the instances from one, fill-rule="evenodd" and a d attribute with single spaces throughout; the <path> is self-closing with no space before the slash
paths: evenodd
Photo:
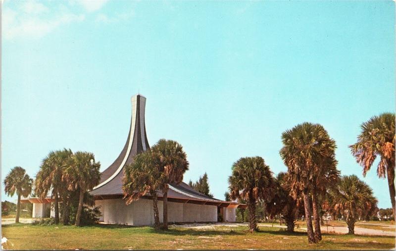
<path id="1" fill-rule="evenodd" d="M 171 227 L 155 232 L 151 227 L 122 225 L 32 226 L 2 225 L 8 239 L 6 249 L 395 249 L 395 237 L 324 234 L 320 244 L 308 245 L 305 233 L 260 227 L 247 233 L 246 226 L 217 226 L 214 229 Z"/>

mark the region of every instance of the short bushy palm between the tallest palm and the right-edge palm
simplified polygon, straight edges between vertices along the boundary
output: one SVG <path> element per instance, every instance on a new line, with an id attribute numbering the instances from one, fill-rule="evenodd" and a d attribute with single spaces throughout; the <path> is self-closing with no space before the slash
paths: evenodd
<path id="1" fill-rule="evenodd" d="M 377 204 L 373 191 L 356 175 L 349 175 L 341 177 L 337 186 L 330 190 L 326 209 L 344 215 L 348 233 L 354 234 L 358 212 L 365 210 L 367 204 L 373 206 Z"/>

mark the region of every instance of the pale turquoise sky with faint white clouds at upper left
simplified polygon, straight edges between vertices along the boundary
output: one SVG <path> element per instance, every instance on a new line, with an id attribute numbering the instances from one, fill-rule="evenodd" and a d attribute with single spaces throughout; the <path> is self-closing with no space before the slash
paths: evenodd
<path id="1" fill-rule="evenodd" d="M 1 180 L 14 166 L 34 178 L 62 148 L 104 170 L 140 93 L 149 144 L 182 144 L 184 181 L 206 172 L 218 199 L 240 157 L 286 171 L 282 132 L 312 122 L 337 142 L 341 174 L 391 207 L 378 161 L 363 177 L 348 146 L 362 122 L 395 112 L 394 25 L 394 1 L 5 0 Z"/>

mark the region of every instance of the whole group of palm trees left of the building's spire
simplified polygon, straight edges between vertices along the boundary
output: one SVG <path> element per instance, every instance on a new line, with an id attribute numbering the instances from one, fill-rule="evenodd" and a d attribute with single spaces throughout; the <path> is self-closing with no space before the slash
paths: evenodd
<path id="1" fill-rule="evenodd" d="M 12 168 L 4 179 L 4 190 L 7 195 L 16 193 L 18 196 L 15 222 L 19 222 L 21 196 L 28 197 L 34 187 L 40 199 L 50 197 L 54 200 L 55 224 L 59 223 L 61 209 L 64 224 L 72 220 L 80 226 L 83 204 L 94 205 L 88 191 L 99 184 L 99 168 L 100 162 L 95 161 L 93 153 L 73 153 L 70 149 L 49 152 L 42 160 L 34 181 L 22 167 Z"/>

